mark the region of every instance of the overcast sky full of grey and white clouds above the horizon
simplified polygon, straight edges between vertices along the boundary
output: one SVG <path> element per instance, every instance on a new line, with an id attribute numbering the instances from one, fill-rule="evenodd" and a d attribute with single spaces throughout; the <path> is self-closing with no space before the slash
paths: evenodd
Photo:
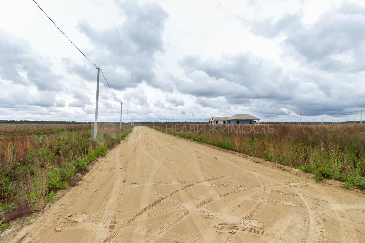
<path id="1" fill-rule="evenodd" d="M 346 121 L 365 110 L 364 1 L 37 3 L 136 121 Z M 95 66 L 33 1 L 2 3 L 0 36 L 0 119 L 93 121 Z M 119 116 L 101 76 L 99 121 Z"/>

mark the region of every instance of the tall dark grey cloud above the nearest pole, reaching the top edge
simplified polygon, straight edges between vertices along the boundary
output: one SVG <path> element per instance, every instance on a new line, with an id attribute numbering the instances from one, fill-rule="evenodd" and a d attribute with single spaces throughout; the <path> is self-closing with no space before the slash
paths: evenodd
<path id="1" fill-rule="evenodd" d="M 98 48 L 93 56 L 97 57 L 108 83 L 118 90 L 137 87 L 143 81 L 165 89 L 165 82 L 156 80 L 153 69 L 155 54 L 164 50 L 162 32 L 168 13 L 156 3 L 142 5 L 127 0 L 116 4 L 126 18 L 119 26 L 99 30 L 85 21 L 78 23 L 79 30 Z M 90 74 L 90 68 L 68 59 L 64 63 L 70 72 L 87 80 L 96 79 L 96 74 Z"/>

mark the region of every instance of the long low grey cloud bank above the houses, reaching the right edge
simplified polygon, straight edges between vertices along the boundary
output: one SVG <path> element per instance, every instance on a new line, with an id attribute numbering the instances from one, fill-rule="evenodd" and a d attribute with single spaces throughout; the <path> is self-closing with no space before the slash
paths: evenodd
<path id="1" fill-rule="evenodd" d="M 269 115 L 282 114 L 283 109 L 319 115 L 358 109 L 362 105 L 360 97 L 364 97 L 356 91 L 364 87 L 361 75 L 351 76 L 351 83 L 345 81 L 348 75 L 311 72 L 309 67 L 303 73 L 288 75 L 280 66 L 254 55 L 225 55 L 207 60 L 188 56 L 180 64 L 189 80 L 176 79 L 177 89 L 197 97 L 197 104 L 218 110 L 223 110 L 222 104 L 228 104 Z M 351 99 L 354 95 L 359 98 Z M 270 112 L 261 109 L 264 106 Z"/>

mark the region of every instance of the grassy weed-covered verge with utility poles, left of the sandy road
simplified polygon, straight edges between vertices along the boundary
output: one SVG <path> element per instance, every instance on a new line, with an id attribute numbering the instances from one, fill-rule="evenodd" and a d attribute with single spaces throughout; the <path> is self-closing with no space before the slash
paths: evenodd
<path id="1" fill-rule="evenodd" d="M 0 232 L 7 222 L 42 209 L 59 189 L 80 180 L 88 165 L 131 132 L 130 126 L 0 125 Z"/>

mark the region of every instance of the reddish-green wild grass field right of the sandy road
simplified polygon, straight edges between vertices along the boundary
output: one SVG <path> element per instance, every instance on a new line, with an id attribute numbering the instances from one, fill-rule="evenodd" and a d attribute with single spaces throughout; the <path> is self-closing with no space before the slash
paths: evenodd
<path id="1" fill-rule="evenodd" d="M 365 189 L 365 133 L 361 125 L 155 124 L 155 130 L 189 138 Z M 256 162 L 256 161 L 255 161 Z"/>

